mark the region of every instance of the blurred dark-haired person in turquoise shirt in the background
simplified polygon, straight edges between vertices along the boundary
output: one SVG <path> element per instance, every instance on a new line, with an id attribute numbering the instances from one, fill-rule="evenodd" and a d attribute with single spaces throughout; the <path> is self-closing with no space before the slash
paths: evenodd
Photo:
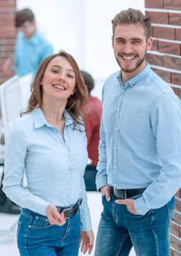
<path id="1" fill-rule="evenodd" d="M 18 36 L 15 42 L 14 62 L 7 59 L 4 71 L 14 69 L 15 74 L 22 77 L 31 72 L 35 73 L 42 60 L 53 54 L 53 47 L 36 30 L 34 13 L 30 9 L 15 13 L 15 27 L 18 29 Z"/>

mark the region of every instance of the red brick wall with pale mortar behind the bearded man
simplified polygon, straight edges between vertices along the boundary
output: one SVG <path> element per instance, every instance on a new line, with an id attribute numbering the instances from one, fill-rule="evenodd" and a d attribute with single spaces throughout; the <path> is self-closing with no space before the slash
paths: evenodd
<path id="1" fill-rule="evenodd" d="M 147 61 L 181 98 L 181 0 L 145 0 L 145 8 L 153 23 L 153 48 Z M 181 189 L 170 238 L 170 256 L 181 256 Z"/>

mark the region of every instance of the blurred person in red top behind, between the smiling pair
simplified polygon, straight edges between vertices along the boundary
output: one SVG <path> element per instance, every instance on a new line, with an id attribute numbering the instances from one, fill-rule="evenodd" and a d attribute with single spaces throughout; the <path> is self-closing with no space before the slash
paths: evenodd
<path id="1" fill-rule="evenodd" d="M 88 158 L 90 164 L 85 168 L 85 187 L 87 191 L 96 190 L 96 165 L 98 162 L 99 129 L 101 123 L 101 101 L 91 96 L 94 88 L 93 77 L 86 71 L 81 70 L 85 86 L 88 87 L 88 116 L 85 121 L 85 132 L 88 138 Z"/>

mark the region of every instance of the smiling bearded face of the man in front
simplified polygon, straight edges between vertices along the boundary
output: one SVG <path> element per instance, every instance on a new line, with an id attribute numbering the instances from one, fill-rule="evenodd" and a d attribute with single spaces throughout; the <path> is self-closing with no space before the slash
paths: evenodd
<path id="1" fill-rule="evenodd" d="M 146 39 L 145 29 L 140 24 L 124 24 L 115 27 L 112 48 L 122 71 L 123 80 L 129 80 L 146 66 L 146 52 L 152 39 Z"/>

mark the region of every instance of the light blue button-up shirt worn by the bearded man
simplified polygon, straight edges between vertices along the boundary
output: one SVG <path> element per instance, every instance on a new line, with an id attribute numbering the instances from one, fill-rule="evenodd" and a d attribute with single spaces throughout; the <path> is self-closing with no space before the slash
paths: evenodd
<path id="1" fill-rule="evenodd" d="M 139 214 L 167 203 L 181 186 L 181 105 L 171 87 L 147 67 L 123 85 L 107 78 L 99 143 L 97 188 L 145 188 Z"/>

